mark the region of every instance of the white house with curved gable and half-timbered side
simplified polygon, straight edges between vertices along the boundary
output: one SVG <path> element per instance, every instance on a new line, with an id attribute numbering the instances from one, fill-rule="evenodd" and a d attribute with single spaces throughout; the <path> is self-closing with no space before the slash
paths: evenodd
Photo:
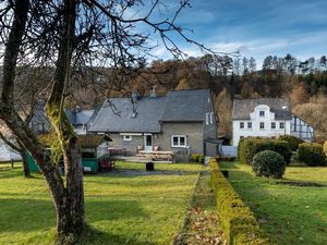
<path id="1" fill-rule="evenodd" d="M 284 98 L 234 100 L 232 111 L 233 146 L 249 136 L 278 137 L 294 135 L 313 140 L 314 130 L 302 119 L 291 113 Z"/>

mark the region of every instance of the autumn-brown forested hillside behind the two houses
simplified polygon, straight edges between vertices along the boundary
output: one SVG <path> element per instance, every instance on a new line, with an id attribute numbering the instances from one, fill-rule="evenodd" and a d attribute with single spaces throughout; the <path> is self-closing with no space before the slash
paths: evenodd
<path id="1" fill-rule="evenodd" d="M 184 61 L 158 60 L 141 72 L 131 72 L 123 83 L 118 83 L 119 86 L 78 89 L 78 99 L 88 107 L 99 107 L 106 97 L 128 96 L 135 90 L 148 95 L 153 86 L 158 95 L 173 89 L 210 88 L 220 120 L 219 134 L 230 136 L 233 99 L 288 97 L 293 112 L 312 124 L 317 140 L 322 140 L 327 135 L 326 66 L 325 56 L 305 61 L 291 54 L 283 58 L 268 56 L 259 69 L 253 58 L 206 54 Z"/>

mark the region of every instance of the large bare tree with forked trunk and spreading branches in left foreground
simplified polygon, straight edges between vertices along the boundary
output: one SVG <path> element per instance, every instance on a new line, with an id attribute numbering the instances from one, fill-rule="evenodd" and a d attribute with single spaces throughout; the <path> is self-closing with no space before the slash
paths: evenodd
<path id="1" fill-rule="evenodd" d="M 152 33 L 138 32 L 140 25 L 158 35 L 175 58 L 184 53 L 171 33 L 207 50 L 189 39 L 175 24 L 181 11 L 189 5 L 187 0 L 180 1 L 174 14 L 159 15 L 161 20 L 155 13 L 162 14 L 161 10 L 168 5 L 159 0 L 150 3 L 141 0 L 8 0 L 0 7 L 0 38 L 4 47 L 0 119 L 28 149 L 45 176 L 57 210 L 60 243 L 75 243 L 85 224 L 81 152 L 64 113 L 71 85 L 83 81 L 85 74 L 100 73 L 100 68 L 110 66 L 106 81 L 122 87 L 125 77 L 146 65 L 146 58 L 156 46 L 149 41 Z M 46 108 L 62 151 L 65 179 L 15 106 L 17 65 L 53 71 L 52 78 L 45 81 L 51 87 Z M 89 72 L 93 66 L 97 69 Z"/>

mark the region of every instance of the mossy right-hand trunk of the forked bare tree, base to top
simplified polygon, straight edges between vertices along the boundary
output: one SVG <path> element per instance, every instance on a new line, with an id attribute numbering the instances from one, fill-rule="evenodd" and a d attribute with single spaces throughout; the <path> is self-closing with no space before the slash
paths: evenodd
<path id="1" fill-rule="evenodd" d="M 84 187 L 82 155 L 77 137 L 63 111 L 63 95 L 68 86 L 75 38 L 76 1 L 64 1 L 62 37 L 55 71 L 55 84 L 47 105 L 47 114 L 61 144 L 66 175 L 65 196 L 59 206 L 57 230 L 59 238 L 81 235 L 84 228 Z M 69 243 L 65 241 L 64 243 Z"/>

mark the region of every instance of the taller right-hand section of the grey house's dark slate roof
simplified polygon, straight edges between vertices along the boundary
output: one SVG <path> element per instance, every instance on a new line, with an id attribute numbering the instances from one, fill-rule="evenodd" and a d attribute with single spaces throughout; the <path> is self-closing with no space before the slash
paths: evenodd
<path id="1" fill-rule="evenodd" d="M 167 94 L 162 122 L 203 122 L 211 112 L 209 89 L 177 90 Z"/>

